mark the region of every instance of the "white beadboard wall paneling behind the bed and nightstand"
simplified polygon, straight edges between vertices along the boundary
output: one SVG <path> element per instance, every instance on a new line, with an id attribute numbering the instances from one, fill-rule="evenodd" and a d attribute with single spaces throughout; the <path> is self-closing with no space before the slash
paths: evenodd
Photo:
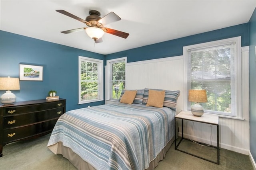
<path id="1" fill-rule="evenodd" d="M 242 116 L 219 118 L 220 147 L 249 154 L 249 47 L 242 48 Z M 183 108 L 183 56 L 127 63 L 126 89 L 158 88 L 180 90 L 177 113 Z M 186 104 L 186 103 L 185 103 Z M 184 137 L 210 143 L 210 125 L 184 122 Z M 181 129 L 181 123 L 179 123 Z M 192 133 L 190 133 L 192 132 Z M 212 145 L 216 145 L 216 126 L 212 126 Z"/>

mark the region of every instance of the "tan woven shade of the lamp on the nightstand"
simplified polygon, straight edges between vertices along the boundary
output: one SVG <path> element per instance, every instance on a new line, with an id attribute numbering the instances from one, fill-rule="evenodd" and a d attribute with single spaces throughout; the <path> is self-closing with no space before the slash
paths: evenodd
<path id="1" fill-rule="evenodd" d="M 197 103 L 207 102 L 206 90 L 188 90 L 188 101 Z"/>

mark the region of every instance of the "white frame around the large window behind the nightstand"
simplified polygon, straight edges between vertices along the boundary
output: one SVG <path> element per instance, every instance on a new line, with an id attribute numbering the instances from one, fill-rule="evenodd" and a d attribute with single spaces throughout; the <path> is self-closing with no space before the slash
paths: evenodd
<path id="1" fill-rule="evenodd" d="M 204 47 L 212 47 L 212 46 L 216 46 L 216 45 L 220 45 L 220 44 L 225 44 L 225 43 L 232 43 L 232 42 L 236 42 L 236 54 L 235 54 L 235 71 L 236 71 L 236 84 L 235 86 L 235 91 L 234 91 L 234 95 L 236 96 L 236 114 L 234 115 L 225 115 L 225 114 L 221 114 L 218 111 L 211 111 L 211 113 L 209 114 L 215 114 L 218 115 L 220 117 L 229 117 L 229 118 L 237 118 L 237 119 L 242 119 L 242 59 L 241 59 L 241 36 L 239 37 L 232 37 L 232 38 L 228 38 L 228 39 L 222 39 L 222 40 L 217 40 L 217 41 L 210 41 L 210 42 L 206 42 L 206 43 L 200 43 L 200 44 L 195 44 L 195 45 L 188 45 L 188 46 L 184 46 L 183 47 L 183 68 L 184 68 L 184 72 L 183 72 L 183 81 L 184 81 L 184 93 L 183 93 L 183 109 L 189 111 L 190 109 L 188 108 L 188 82 L 187 82 L 187 73 L 188 73 L 188 50 L 189 49 L 194 49 L 194 48 L 204 48 Z M 190 103 L 190 102 L 189 102 Z M 205 113 L 208 113 L 207 111 L 205 111 Z"/>

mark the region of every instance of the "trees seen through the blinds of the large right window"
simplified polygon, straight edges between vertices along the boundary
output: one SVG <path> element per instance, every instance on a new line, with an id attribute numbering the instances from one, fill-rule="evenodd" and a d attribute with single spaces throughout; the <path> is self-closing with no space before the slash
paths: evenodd
<path id="1" fill-rule="evenodd" d="M 230 47 L 191 52 L 191 89 L 206 89 L 206 110 L 231 113 Z"/>

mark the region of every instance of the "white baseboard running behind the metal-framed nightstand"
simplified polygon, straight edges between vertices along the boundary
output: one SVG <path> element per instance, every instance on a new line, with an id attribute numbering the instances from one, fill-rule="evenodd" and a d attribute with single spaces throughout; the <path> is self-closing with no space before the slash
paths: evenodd
<path id="1" fill-rule="evenodd" d="M 179 132 L 179 136 L 180 137 L 182 136 L 181 132 Z M 213 146 L 217 146 L 217 141 L 212 141 L 210 143 L 210 140 L 202 139 L 202 138 L 195 137 L 195 136 L 190 136 L 189 137 L 189 135 L 185 134 L 185 133 L 183 133 L 183 137 L 187 138 L 187 139 L 192 139 L 194 141 L 198 141 L 198 142 L 201 142 L 201 143 L 211 144 Z M 232 150 L 234 152 L 238 152 L 238 153 L 246 154 L 246 155 L 249 154 L 249 150 L 248 149 L 238 148 L 238 147 L 234 147 L 234 146 L 231 146 L 231 145 L 226 145 L 224 143 L 219 143 L 219 145 L 220 145 L 219 147 L 222 148 L 222 149 Z"/>

